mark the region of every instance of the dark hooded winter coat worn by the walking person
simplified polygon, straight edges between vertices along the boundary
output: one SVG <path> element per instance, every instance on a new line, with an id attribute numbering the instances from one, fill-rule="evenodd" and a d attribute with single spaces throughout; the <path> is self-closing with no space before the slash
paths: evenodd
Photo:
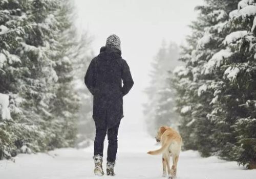
<path id="1" fill-rule="evenodd" d="M 123 81 L 123 86 L 122 86 Z M 93 94 L 93 119 L 96 127 L 114 126 L 123 117 L 123 96 L 134 82 L 130 68 L 119 49 L 101 47 L 84 76 L 84 83 Z"/>

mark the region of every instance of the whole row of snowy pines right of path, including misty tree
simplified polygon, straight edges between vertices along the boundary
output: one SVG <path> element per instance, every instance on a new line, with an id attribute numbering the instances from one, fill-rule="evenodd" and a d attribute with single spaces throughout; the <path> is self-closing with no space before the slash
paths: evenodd
<path id="1" fill-rule="evenodd" d="M 256 2 L 204 2 L 196 7 L 198 18 L 191 23 L 192 34 L 181 49 L 179 60 L 184 65 L 168 75 L 159 69 L 169 63 L 171 70 L 174 54 L 167 57 L 168 63 L 158 60 L 153 65 L 157 72 L 147 93 L 152 103 L 145 108 L 151 111 L 148 129 L 163 123 L 172 126 L 176 115 L 165 113 L 175 109 L 183 149 L 256 168 Z M 157 59 L 160 56 L 161 50 Z M 165 78 L 156 75 L 163 73 Z M 156 81 L 167 90 L 156 90 Z"/>

